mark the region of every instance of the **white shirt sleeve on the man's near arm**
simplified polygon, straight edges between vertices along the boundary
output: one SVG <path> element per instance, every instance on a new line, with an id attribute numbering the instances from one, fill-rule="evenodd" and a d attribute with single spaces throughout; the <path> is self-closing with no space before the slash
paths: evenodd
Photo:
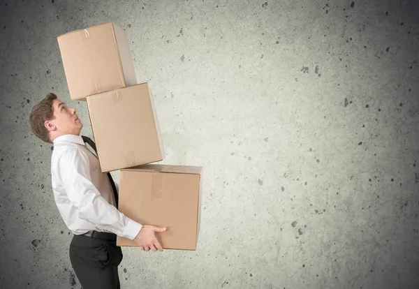
<path id="1" fill-rule="evenodd" d="M 134 239 L 142 225 L 110 205 L 91 182 L 89 156 L 82 149 L 69 149 L 58 161 L 61 181 L 78 217 L 97 228 Z"/>

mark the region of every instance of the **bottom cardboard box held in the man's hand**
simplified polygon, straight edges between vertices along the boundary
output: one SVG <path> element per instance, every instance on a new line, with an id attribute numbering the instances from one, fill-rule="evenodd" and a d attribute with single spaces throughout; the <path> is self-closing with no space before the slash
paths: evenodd
<path id="1" fill-rule="evenodd" d="M 167 227 L 156 233 L 163 249 L 196 250 L 200 230 L 203 168 L 141 165 L 119 178 L 119 211 L 142 225 Z M 137 246 L 117 237 L 117 246 Z"/>

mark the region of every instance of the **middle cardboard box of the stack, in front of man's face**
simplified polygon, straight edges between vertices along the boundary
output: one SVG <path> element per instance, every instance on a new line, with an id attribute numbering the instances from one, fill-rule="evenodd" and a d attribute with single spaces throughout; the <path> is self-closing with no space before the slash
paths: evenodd
<path id="1" fill-rule="evenodd" d="M 102 172 L 162 161 L 165 152 L 148 84 L 87 97 Z"/>

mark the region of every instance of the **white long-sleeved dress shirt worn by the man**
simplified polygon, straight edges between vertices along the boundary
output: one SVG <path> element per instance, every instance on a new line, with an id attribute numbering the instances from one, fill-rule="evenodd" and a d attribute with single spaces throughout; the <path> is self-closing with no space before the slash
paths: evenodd
<path id="1" fill-rule="evenodd" d="M 142 225 L 115 207 L 108 175 L 80 135 L 61 135 L 53 143 L 52 191 L 68 229 L 74 235 L 96 230 L 134 239 Z"/>

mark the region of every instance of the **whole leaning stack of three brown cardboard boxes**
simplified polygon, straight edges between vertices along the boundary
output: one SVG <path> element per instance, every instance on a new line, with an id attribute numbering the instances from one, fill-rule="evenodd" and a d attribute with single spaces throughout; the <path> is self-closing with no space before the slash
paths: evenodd
<path id="1" fill-rule="evenodd" d="M 71 99 L 87 101 L 102 172 L 120 170 L 119 211 L 167 227 L 165 249 L 196 250 L 202 168 L 165 157 L 152 91 L 137 83 L 126 31 L 100 24 L 58 38 Z M 118 237 L 118 246 L 136 246 Z"/>

